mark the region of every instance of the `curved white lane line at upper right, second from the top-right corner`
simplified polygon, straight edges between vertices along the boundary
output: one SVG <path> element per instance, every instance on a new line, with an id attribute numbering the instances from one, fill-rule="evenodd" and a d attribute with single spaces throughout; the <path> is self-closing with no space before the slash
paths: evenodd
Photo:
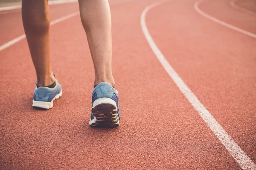
<path id="1" fill-rule="evenodd" d="M 196 2 L 196 3 L 194 4 L 195 10 L 196 10 L 199 14 L 203 15 L 204 17 L 206 17 L 206 18 L 208 18 L 208 19 L 210 19 L 210 20 L 212 20 L 212 21 L 214 21 L 214 22 L 216 22 L 216 23 L 218 23 L 218 24 L 221 24 L 221 25 L 226 26 L 226 27 L 228 27 L 228 28 L 231 28 L 231 29 L 233 29 L 233 30 L 239 31 L 239 32 L 241 32 L 242 34 L 246 34 L 246 35 L 248 35 L 248 36 L 250 36 L 250 37 L 256 38 L 256 34 L 253 34 L 253 33 L 250 33 L 250 32 L 248 32 L 248 31 L 245 31 L 245 30 L 243 30 L 243 29 L 240 29 L 240 28 L 237 28 L 237 27 L 235 27 L 235 26 L 232 26 L 232 25 L 230 25 L 230 24 L 228 24 L 228 23 L 225 23 L 225 22 L 223 22 L 223 21 L 221 21 L 221 20 L 218 20 L 217 18 L 212 17 L 212 16 L 210 16 L 210 15 L 204 13 L 203 11 L 201 11 L 201 9 L 198 8 L 198 5 L 201 4 L 201 3 L 203 3 L 203 2 L 204 2 L 204 0 L 199 0 L 198 2 Z"/>

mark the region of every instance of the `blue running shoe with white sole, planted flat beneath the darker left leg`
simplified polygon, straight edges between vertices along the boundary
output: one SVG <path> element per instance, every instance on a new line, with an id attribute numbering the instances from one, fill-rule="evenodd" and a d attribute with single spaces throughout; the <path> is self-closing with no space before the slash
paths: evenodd
<path id="1" fill-rule="evenodd" d="M 37 108 L 50 109 L 53 107 L 53 100 L 62 96 L 61 85 L 55 79 L 56 85 L 54 88 L 35 87 L 33 105 Z"/>

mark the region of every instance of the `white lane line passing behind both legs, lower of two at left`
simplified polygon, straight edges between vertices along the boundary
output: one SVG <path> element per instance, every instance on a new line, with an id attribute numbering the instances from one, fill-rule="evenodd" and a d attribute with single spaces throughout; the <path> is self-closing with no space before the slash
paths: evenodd
<path id="1" fill-rule="evenodd" d="M 119 1 L 119 0 L 117 1 L 117 0 L 116 0 L 116 1 L 113 1 L 113 3 L 111 3 L 110 6 L 118 5 L 118 4 L 120 4 L 120 3 L 125 3 L 125 2 L 129 2 L 129 1 L 132 1 L 132 0 L 122 0 L 122 1 Z M 74 16 L 76 16 L 76 15 L 79 15 L 79 11 L 76 11 L 76 12 L 74 12 L 74 13 L 72 13 L 72 14 L 68 14 L 68 15 L 66 15 L 66 16 L 64 16 L 64 17 L 61 17 L 61 18 L 59 18 L 59 19 L 57 19 L 57 20 L 54 20 L 54 21 L 50 22 L 50 26 L 52 26 L 52 25 L 54 25 L 54 24 L 56 24 L 56 23 L 59 23 L 59 22 L 61 22 L 61 21 L 67 20 L 67 19 L 69 19 L 69 18 L 71 18 L 71 17 L 74 17 Z M 0 51 L 2 51 L 2 50 L 5 49 L 5 48 L 8 48 L 8 47 L 11 46 L 11 45 L 14 45 L 15 43 L 19 42 L 20 40 L 23 40 L 24 38 L 26 38 L 26 35 L 25 35 L 25 34 L 22 34 L 22 35 L 20 35 L 19 37 L 16 37 L 15 39 L 13 39 L 13 40 L 11 40 L 11 41 L 6 42 L 5 44 L 3 44 L 3 45 L 0 46 Z"/>

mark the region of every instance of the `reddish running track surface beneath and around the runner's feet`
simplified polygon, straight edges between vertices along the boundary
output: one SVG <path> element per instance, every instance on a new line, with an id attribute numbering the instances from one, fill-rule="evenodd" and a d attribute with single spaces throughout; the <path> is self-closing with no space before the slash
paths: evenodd
<path id="1" fill-rule="evenodd" d="M 32 108 L 26 40 L 2 49 L 0 169 L 256 169 L 256 39 L 201 15 L 196 2 L 110 0 L 118 128 L 88 125 L 94 71 L 79 15 L 51 26 L 52 68 L 64 95 L 48 111 Z M 199 2 L 198 9 L 256 34 L 256 15 L 230 0 Z M 76 11 L 77 3 L 52 5 L 51 20 Z M 0 22 L 0 45 L 24 33 L 20 9 L 0 11 Z M 183 85 L 191 90 L 185 95 Z M 207 123 L 214 118 L 202 118 L 199 104 L 225 134 Z"/>

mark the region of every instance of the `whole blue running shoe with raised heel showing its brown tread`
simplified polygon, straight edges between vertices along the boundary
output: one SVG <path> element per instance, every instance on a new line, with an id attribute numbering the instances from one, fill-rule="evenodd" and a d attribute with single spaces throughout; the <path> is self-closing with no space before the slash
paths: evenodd
<path id="1" fill-rule="evenodd" d="M 118 91 L 106 82 L 93 90 L 92 112 L 89 125 L 98 127 L 119 126 Z"/>

